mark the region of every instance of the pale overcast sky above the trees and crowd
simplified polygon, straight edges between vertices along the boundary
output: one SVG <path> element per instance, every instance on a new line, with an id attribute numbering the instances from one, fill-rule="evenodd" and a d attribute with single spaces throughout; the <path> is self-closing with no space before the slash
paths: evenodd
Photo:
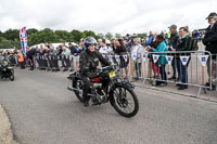
<path id="1" fill-rule="evenodd" d="M 176 24 L 205 28 L 217 0 L 0 0 L 0 30 L 51 28 L 133 34 Z"/>

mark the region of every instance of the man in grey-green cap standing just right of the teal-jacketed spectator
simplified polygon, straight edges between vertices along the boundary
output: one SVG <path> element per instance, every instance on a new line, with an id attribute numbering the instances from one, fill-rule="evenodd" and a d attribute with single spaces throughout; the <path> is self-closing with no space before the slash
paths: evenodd
<path id="1" fill-rule="evenodd" d="M 168 51 L 174 51 L 176 50 L 176 47 L 177 47 L 177 43 L 179 41 L 179 35 L 177 32 L 177 26 L 176 25 L 171 25 L 169 28 L 169 31 L 170 31 L 170 38 L 168 38 Z M 173 67 L 173 76 L 171 78 L 169 78 L 169 80 L 176 80 L 176 74 L 177 74 L 177 70 L 176 70 L 176 54 L 171 54 L 173 56 L 175 56 L 173 58 L 173 62 L 171 62 L 171 67 Z"/>

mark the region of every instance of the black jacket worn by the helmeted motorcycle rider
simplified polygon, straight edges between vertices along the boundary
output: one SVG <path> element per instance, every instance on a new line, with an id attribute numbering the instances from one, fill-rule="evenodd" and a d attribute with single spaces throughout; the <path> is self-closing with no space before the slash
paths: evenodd
<path id="1" fill-rule="evenodd" d="M 105 66 L 111 65 L 111 63 L 105 60 L 100 52 L 90 52 L 89 50 L 82 51 L 79 58 L 80 74 L 89 78 L 94 77 L 99 62 Z"/>

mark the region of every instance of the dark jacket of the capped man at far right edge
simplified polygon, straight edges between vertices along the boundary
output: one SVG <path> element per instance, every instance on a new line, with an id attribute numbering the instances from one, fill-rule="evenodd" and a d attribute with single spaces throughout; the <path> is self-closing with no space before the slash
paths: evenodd
<path id="1" fill-rule="evenodd" d="M 206 45 L 206 51 L 217 54 L 217 22 L 212 28 L 210 26 L 207 27 L 203 43 Z"/>

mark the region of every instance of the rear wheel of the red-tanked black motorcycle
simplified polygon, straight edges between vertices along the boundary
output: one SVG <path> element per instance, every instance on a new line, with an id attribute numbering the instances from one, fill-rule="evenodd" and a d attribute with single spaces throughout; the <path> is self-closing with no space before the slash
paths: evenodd
<path id="1" fill-rule="evenodd" d="M 75 95 L 77 96 L 77 99 L 80 101 L 80 102 L 84 102 L 84 97 L 82 97 L 82 88 L 84 88 L 84 82 L 81 80 L 76 80 L 74 83 L 73 83 L 73 87 L 76 88 L 77 90 L 74 90 L 75 92 Z"/>

